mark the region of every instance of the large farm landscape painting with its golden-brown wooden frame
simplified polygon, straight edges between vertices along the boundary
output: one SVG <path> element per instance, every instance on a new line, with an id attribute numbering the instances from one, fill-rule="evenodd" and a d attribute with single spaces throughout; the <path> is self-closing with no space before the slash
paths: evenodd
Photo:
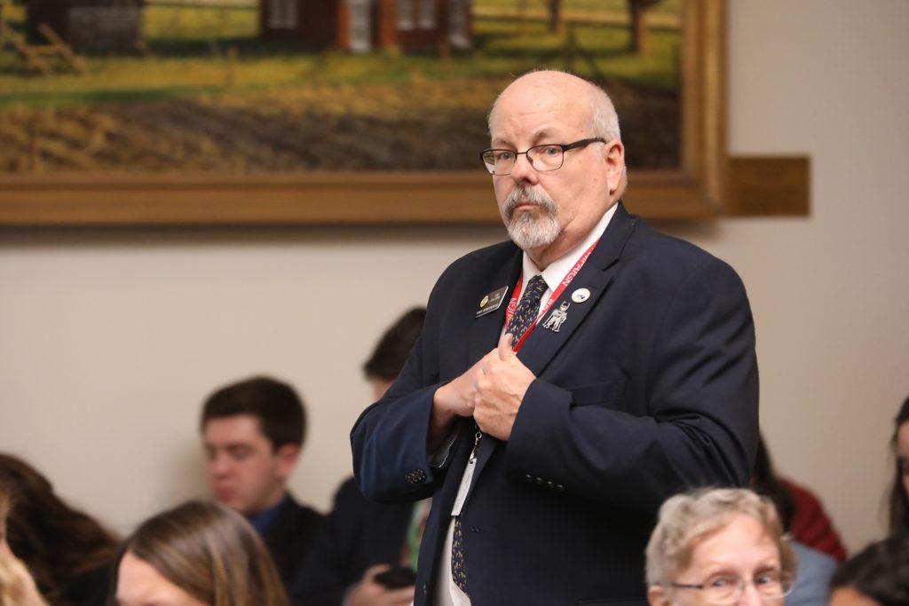
<path id="1" fill-rule="evenodd" d="M 0 6 L 0 225 L 497 222 L 486 114 L 537 68 L 611 94 L 634 212 L 723 210 L 724 0 Z"/>

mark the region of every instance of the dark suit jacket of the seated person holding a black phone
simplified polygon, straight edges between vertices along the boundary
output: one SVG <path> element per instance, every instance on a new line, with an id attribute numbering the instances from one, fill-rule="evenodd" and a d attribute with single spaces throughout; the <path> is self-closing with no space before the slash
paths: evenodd
<path id="1" fill-rule="evenodd" d="M 401 560 L 413 517 L 413 503 L 369 501 L 353 478 L 344 482 L 296 575 L 292 601 L 298 606 L 341 606 L 346 591 L 363 579 L 366 569 Z"/>

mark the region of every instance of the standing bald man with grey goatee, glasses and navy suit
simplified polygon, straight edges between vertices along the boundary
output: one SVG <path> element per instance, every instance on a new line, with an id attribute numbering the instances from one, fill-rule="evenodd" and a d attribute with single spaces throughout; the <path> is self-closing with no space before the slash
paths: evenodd
<path id="1" fill-rule="evenodd" d="M 645 604 L 664 499 L 748 482 L 744 286 L 625 210 L 600 88 L 524 75 L 489 129 L 482 158 L 511 242 L 435 284 L 404 372 L 351 432 L 356 480 L 375 500 L 433 497 L 417 605 Z"/>

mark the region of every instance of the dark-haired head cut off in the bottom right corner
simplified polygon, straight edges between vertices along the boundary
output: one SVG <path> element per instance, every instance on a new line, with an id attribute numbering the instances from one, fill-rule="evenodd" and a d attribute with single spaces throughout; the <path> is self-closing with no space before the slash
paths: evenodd
<path id="1" fill-rule="evenodd" d="M 846 561 L 830 583 L 831 606 L 909 604 L 909 534 L 872 543 Z"/>

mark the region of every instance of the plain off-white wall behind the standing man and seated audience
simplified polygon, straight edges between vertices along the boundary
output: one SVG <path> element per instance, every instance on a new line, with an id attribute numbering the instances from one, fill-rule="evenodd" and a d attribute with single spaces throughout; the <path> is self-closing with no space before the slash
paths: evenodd
<path id="1" fill-rule="evenodd" d="M 885 442 L 909 395 L 909 2 L 733 0 L 729 12 L 731 152 L 810 154 L 813 213 L 664 228 L 742 274 L 774 458 L 854 549 L 881 534 Z M 0 450 L 128 531 L 204 492 L 205 395 L 272 373 L 308 402 L 293 485 L 325 509 L 349 473 L 375 339 L 447 263 L 503 234 L 0 231 Z"/>

